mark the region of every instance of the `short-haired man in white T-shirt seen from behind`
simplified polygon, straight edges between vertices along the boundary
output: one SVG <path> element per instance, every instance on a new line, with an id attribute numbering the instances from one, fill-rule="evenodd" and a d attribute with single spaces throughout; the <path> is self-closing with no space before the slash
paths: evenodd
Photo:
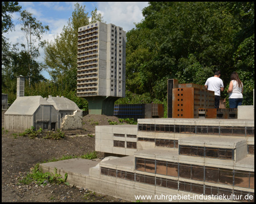
<path id="1" fill-rule="evenodd" d="M 214 108 L 220 107 L 220 92 L 224 91 L 223 81 L 220 79 L 220 71 L 216 71 L 214 76 L 207 79 L 204 84 L 209 91 L 214 91 Z"/>

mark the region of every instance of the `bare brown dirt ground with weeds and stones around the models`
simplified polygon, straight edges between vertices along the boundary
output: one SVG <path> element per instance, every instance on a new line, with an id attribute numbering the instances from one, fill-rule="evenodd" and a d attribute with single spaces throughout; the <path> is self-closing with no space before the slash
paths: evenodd
<path id="1" fill-rule="evenodd" d="M 18 132 L 3 129 L 4 113 L 2 111 L 2 202 L 126 202 L 76 186 L 43 186 L 35 182 L 23 185 L 19 182 L 37 163 L 93 152 L 95 125 L 109 125 L 109 120 L 118 122 L 117 117 L 84 116 L 82 130 L 64 131 L 64 139 L 52 140 L 43 139 L 45 133 L 42 137 L 30 139 L 16 136 Z M 98 158 L 103 159 L 104 155 L 98 152 Z"/>

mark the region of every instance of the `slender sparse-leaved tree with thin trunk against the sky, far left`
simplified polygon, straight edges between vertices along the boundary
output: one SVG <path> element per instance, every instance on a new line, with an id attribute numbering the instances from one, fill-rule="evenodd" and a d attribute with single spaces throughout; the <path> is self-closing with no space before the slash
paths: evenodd
<path id="1" fill-rule="evenodd" d="M 26 37 L 27 41 L 27 54 L 30 56 L 30 60 L 27 60 L 27 66 L 28 66 L 28 84 L 31 85 L 31 77 L 32 77 L 32 63 L 34 63 L 34 59 L 39 57 L 39 47 L 44 46 L 44 42 L 41 41 L 42 35 L 44 32 L 49 31 L 48 25 L 43 26 L 39 20 L 36 20 L 32 16 L 32 14 L 26 10 L 22 11 L 20 13 L 20 22 L 22 24 L 22 32 L 24 36 Z M 39 42 L 38 45 L 36 45 L 36 42 Z M 26 48 L 26 45 L 22 44 L 24 48 Z M 35 67 L 35 66 L 34 66 Z"/>

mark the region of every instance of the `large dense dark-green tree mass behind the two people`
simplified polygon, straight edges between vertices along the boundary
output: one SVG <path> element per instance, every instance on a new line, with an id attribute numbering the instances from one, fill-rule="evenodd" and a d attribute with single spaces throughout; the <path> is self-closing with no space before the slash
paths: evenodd
<path id="1" fill-rule="evenodd" d="M 162 100 L 167 78 L 204 85 L 217 70 L 227 86 L 242 58 L 254 76 L 254 3 L 150 2 L 142 14 L 126 35 L 126 84 L 134 93 Z"/>

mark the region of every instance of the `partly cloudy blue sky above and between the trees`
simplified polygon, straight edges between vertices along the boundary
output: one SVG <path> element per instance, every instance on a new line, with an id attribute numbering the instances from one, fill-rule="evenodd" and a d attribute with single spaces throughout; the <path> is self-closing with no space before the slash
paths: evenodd
<path id="1" fill-rule="evenodd" d="M 27 10 L 32 13 L 36 20 L 39 20 L 43 25 L 49 26 L 49 31 L 44 33 L 42 40 L 52 41 L 59 35 L 64 27 L 67 25 L 68 19 L 71 18 L 72 12 L 75 9 L 77 2 L 19 2 L 22 6 L 21 11 Z M 148 6 L 148 2 L 78 2 L 85 6 L 85 12 L 90 12 L 97 8 L 101 13 L 104 21 L 118 25 L 123 28 L 123 31 L 130 31 L 135 28 L 134 23 L 139 23 L 143 19 L 142 9 Z M 19 13 L 11 14 L 12 20 L 15 24 L 15 31 L 5 34 L 11 44 L 26 44 L 26 39 L 20 30 L 18 24 Z M 19 47 L 20 48 L 20 47 Z M 21 48 L 20 48 L 21 49 Z M 38 62 L 44 61 L 44 51 L 39 50 L 40 57 Z M 51 79 L 47 71 L 42 74 L 45 78 Z"/>

